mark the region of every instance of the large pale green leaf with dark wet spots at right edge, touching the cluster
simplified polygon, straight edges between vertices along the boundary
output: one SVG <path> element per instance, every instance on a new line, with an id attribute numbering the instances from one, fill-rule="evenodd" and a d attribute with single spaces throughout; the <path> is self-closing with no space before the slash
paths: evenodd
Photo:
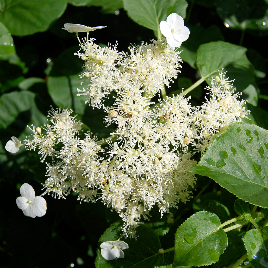
<path id="1" fill-rule="evenodd" d="M 237 197 L 268 207 L 268 132 L 234 123 L 216 137 L 190 171 L 208 176 Z"/>

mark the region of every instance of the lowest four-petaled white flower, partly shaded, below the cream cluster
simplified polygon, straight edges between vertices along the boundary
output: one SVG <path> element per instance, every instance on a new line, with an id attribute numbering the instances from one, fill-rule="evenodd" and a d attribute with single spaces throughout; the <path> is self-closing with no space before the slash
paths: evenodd
<path id="1" fill-rule="evenodd" d="M 125 254 L 122 250 L 128 249 L 128 244 L 124 241 L 106 241 L 101 245 L 102 257 L 107 261 L 115 258 L 124 258 Z"/>

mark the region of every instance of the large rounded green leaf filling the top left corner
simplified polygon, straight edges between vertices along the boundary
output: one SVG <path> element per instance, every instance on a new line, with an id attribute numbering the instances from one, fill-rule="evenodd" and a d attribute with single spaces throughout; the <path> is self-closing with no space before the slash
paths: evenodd
<path id="1" fill-rule="evenodd" d="M 46 31 L 66 7 L 66 0 L 1 0 L 0 21 L 12 35 L 32 35 Z"/>

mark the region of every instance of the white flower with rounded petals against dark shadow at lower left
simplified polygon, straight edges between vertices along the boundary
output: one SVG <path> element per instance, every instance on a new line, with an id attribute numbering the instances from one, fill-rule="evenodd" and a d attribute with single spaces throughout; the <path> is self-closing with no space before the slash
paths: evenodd
<path id="1" fill-rule="evenodd" d="M 16 199 L 18 208 L 22 209 L 25 216 L 35 218 L 46 214 L 46 200 L 43 197 L 35 196 L 35 190 L 28 183 L 20 188 L 21 196 Z"/>

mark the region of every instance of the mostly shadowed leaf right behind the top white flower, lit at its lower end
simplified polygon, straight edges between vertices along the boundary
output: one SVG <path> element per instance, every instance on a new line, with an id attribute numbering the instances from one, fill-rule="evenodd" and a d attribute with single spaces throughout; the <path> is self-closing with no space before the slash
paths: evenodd
<path id="1" fill-rule="evenodd" d="M 221 30 L 216 25 L 211 25 L 205 29 L 202 26 L 189 25 L 190 36 L 182 43 L 180 50 L 180 57 L 183 61 L 187 62 L 192 68 L 196 69 L 196 53 L 201 44 L 209 43 L 212 41 L 224 41 Z"/>

